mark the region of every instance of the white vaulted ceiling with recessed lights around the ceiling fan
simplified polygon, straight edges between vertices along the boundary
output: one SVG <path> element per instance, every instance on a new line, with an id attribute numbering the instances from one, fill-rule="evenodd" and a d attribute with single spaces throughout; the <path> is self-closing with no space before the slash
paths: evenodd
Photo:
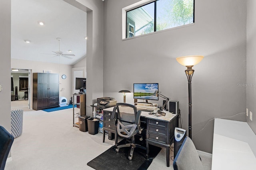
<path id="1" fill-rule="evenodd" d="M 12 0 L 11 58 L 75 64 L 86 57 L 86 12 L 63 0 Z M 43 21 L 44 25 L 39 25 Z M 72 59 L 45 55 L 59 50 Z M 29 39 L 31 43 L 25 43 Z"/>

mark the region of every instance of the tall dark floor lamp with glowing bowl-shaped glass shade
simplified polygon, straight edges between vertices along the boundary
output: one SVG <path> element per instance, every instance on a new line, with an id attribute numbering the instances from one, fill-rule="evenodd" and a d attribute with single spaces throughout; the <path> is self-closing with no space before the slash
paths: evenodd
<path id="1" fill-rule="evenodd" d="M 185 70 L 186 76 L 188 78 L 188 137 L 192 139 L 192 101 L 191 101 L 191 79 L 194 74 L 194 70 L 192 66 L 200 63 L 200 61 L 204 58 L 202 55 L 189 55 L 178 57 L 176 60 L 183 66 L 186 66 Z"/>

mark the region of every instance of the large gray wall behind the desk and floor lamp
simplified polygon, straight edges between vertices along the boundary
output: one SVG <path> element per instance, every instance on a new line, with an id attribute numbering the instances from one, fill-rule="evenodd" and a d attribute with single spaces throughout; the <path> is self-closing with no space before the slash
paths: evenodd
<path id="1" fill-rule="evenodd" d="M 176 57 L 204 55 L 193 67 L 192 135 L 214 117 L 245 112 L 246 88 L 238 84 L 246 83 L 246 0 L 196 0 L 194 25 L 122 41 L 122 8 L 138 1 L 104 1 L 104 96 L 122 102 L 119 90 L 158 82 L 164 96 L 180 102 L 187 129 L 186 67 Z M 126 102 L 133 102 L 132 93 Z M 246 116 L 232 119 L 246 121 Z M 197 149 L 212 152 L 213 125 L 192 138 Z"/>

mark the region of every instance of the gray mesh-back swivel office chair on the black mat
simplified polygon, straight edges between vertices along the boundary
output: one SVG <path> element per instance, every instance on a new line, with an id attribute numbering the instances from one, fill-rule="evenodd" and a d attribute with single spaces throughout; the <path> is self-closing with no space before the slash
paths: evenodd
<path id="1" fill-rule="evenodd" d="M 116 109 L 118 114 L 117 124 L 116 124 L 118 135 L 125 139 L 132 139 L 131 143 L 129 144 L 123 144 L 123 145 L 117 146 L 116 152 L 119 152 L 119 149 L 123 147 L 132 147 L 130 150 L 130 155 L 128 156 L 128 159 L 132 160 L 133 152 L 136 147 L 146 150 L 145 147 L 135 144 L 135 139 L 134 139 L 134 136 L 136 134 L 141 134 L 143 130 L 143 128 L 140 127 L 141 111 L 140 110 L 137 111 L 137 108 L 132 104 L 117 103 L 113 109 L 112 119 L 114 119 L 114 116 L 116 114 Z"/>

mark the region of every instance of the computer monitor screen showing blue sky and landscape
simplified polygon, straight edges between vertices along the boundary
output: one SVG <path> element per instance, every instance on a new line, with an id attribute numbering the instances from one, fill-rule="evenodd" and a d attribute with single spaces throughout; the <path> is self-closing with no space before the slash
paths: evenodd
<path id="1" fill-rule="evenodd" d="M 158 100 L 158 83 L 134 83 L 133 98 Z"/>

